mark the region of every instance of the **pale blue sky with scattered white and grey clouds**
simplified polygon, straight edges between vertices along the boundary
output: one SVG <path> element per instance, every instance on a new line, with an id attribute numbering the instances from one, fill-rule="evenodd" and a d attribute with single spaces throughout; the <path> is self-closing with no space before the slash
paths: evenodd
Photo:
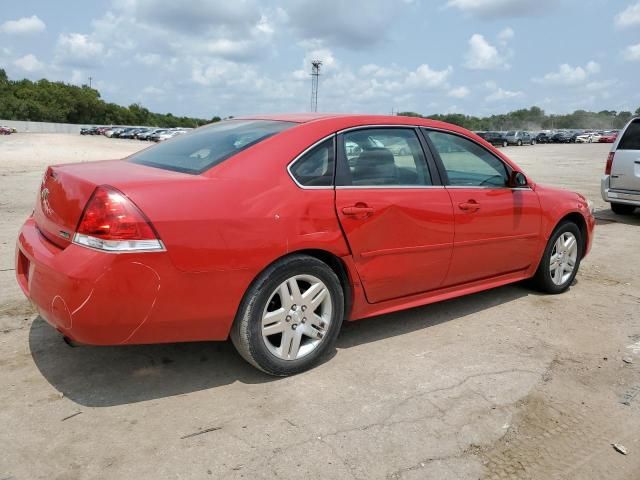
<path id="1" fill-rule="evenodd" d="M 640 107 L 640 0 L 20 0 L 11 79 L 152 111 L 490 115 Z"/>

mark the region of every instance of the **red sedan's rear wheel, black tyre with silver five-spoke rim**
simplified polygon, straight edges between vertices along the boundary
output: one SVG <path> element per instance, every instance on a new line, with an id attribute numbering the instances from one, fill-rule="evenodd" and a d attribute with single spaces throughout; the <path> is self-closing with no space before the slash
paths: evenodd
<path id="1" fill-rule="evenodd" d="M 344 294 L 334 271 L 314 257 L 292 255 L 268 267 L 249 288 L 231 340 L 263 372 L 293 375 L 333 348 L 343 317 Z"/>

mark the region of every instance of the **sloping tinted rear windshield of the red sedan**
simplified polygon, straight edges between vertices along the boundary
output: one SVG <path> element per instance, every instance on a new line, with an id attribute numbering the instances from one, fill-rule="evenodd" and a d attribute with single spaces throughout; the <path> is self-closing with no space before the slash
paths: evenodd
<path id="1" fill-rule="evenodd" d="M 129 161 L 177 172 L 202 173 L 294 125 L 273 120 L 225 120 L 143 150 Z"/>

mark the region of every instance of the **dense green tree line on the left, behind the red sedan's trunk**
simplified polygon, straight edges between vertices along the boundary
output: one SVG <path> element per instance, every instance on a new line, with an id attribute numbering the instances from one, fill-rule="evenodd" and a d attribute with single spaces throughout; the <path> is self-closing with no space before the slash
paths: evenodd
<path id="1" fill-rule="evenodd" d="M 123 107 L 105 102 L 100 92 L 87 85 L 78 87 L 49 80 L 10 80 L 0 69 L 0 118 L 34 122 L 85 125 L 149 125 L 158 127 L 197 127 L 216 122 L 212 119 L 178 117 L 154 113 L 134 103 Z"/>

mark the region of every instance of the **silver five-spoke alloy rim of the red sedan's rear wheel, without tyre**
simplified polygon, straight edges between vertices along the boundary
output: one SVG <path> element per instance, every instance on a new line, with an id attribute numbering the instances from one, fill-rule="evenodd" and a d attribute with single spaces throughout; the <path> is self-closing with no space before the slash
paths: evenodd
<path id="1" fill-rule="evenodd" d="M 331 293 L 313 275 L 295 275 L 271 294 L 262 314 L 262 339 L 282 360 L 297 360 L 322 343 L 333 317 Z"/>

